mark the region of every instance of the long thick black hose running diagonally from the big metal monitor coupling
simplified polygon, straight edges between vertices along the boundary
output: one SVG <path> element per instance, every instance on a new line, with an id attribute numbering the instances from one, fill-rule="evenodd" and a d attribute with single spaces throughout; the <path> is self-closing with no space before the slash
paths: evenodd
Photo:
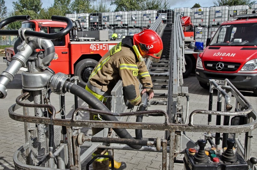
<path id="1" fill-rule="evenodd" d="M 110 110 L 100 100 L 98 100 L 93 94 L 86 91 L 84 88 L 68 81 L 65 81 L 65 84 L 66 84 L 66 86 L 64 87 L 66 88 L 65 91 L 68 91 L 71 94 L 74 94 L 80 97 L 84 102 L 90 105 L 93 109 L 110 112 Z M 109 116 L 109 115 L 101 115 L 101 116 L 103 117 L 104 120 L 107 120 L 107 121 L 119 121 L 115 116 Z M 113 128 L 113 130 L 120 138 L 134 139 L 126 129 Z M 141 148 L 141 146 L 138 146 L 138 145 L 129 145 L 129 146 L 132 147 L 133 149 Z"/>

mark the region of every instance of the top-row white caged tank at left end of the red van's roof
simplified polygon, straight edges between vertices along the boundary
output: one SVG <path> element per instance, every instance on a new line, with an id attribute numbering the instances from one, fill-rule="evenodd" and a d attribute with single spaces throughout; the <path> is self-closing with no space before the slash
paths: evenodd
<path id="1" fill-rule="evenodd" d="M 229 20 L 229 6 L 211 7 L 210 25 L 219 26 L 221 23 Z"/>

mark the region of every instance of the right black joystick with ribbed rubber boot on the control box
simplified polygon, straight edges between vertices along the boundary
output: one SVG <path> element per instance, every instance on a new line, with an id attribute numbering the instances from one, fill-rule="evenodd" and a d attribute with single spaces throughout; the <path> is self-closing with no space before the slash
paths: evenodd
<path id="1" fill-rule="evenodd" d="M 227 150 L 222 153 L 221 159 L 225 162 L 236 162 L 236 155 L 233 152 L 233 146 L 235 145 L 236 141 L 234 139 L 227 139 Z"/>

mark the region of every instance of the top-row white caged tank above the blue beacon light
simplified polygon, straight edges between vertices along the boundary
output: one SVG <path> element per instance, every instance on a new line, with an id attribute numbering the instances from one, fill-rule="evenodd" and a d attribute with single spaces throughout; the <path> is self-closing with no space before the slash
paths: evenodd
<path id="1" fill-rule="evenodd" d="M 210 22 L 210 8 L 193 8 L 191 21 L 195 26 L 208 27 Z"/>

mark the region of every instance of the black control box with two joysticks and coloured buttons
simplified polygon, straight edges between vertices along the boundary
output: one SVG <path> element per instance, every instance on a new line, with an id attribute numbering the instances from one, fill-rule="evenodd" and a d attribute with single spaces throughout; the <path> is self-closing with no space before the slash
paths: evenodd
<path id="1" fill-rule="evenodd" d="M 199 150 L 186 149 L 184 170 L 248 170 L 246 161 L 236 153 L 234 139 L 227 139 L 227 148 L 205 148 L 206 141 L 198 140 Z"/>

